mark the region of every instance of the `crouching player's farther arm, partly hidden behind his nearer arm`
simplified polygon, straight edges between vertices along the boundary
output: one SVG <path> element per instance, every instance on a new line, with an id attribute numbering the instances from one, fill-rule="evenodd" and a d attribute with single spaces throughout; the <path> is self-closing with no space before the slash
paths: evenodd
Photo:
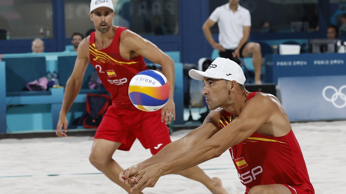
<path id="1" fill-rule="evenodd" d="M 211 111 L 201 126 L 192 130 L 181 139 L 166 145 L 161 149 L 160 152 L 151 158 L 125 169 L 119 175 L 120 180 L 124 183 L 128 183 L 128 177 L 137 177 L 137 180 L 139 180 L 139 178 L 142 177 L 141 175 L 143 175 L 142 170 L 148 166 L 156 165 L 169 159 L 178 157 L 192 146 L 198 144 L 201 140 L 207 140 L 215 135 L 218 130 L 220 130 L 218 127 L 217 118 L 220 117 L 221 111 L 222 109 Z"/>

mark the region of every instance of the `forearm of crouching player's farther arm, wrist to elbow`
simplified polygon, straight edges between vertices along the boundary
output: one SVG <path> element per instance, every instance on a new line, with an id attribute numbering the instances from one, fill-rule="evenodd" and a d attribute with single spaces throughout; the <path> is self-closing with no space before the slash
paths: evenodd
<path id="1" fill-rule="evenodd" d="M 155 164 L 163 163 L 165 161 L 168 161 L 170 159 L 176 158 L 183 154 L 185 150 L 189 149 L 191 146 L 188 144 L 183 144 L 183 138 L 176 140 L 165 147 L 163 147 L 160 152 L 155 154 L 154 156 L 148 158 L 147 160 L 138 163 L 137 167 L 139 169 L 144 169 L 148 166 L 152 166 Z"/>

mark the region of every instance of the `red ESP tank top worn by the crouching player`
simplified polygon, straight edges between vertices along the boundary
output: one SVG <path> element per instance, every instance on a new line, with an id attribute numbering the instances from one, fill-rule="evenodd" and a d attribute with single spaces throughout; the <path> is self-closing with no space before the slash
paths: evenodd
<path id="1" fill-rule="evenodd" d="M 248 100 L 256 92 L 250 93 Z M 225 127 L 232 121 L 232 114 L 223 111 L 219 126 Z M 231 148 L 229 152 L 238 176 L 246 192 L 256 185 L 287 184 L 302 186 L 307 193 L 314 193 L 308 170 L 292 129 L 281 137 L 272 137 L 255 132 Z"/>

